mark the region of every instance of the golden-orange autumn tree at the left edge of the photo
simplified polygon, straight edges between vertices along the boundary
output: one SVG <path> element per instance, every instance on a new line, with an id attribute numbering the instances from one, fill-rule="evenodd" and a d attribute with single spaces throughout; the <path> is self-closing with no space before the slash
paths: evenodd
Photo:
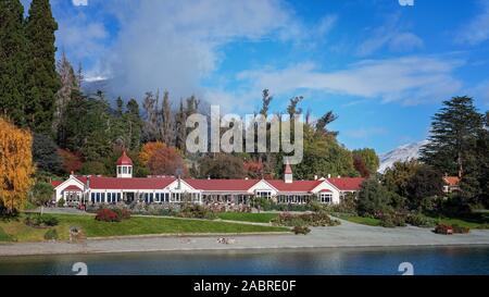
<path id="1" fill-rule="evenodd" d="M 33 136 L 0 117 L 0 206 L 22 209 L 34 184 Z"/>

